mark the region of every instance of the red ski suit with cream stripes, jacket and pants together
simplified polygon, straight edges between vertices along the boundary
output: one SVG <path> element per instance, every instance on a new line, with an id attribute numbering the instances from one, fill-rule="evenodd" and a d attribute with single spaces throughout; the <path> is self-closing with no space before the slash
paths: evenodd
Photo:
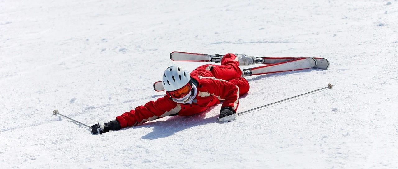
<path id="1" fill-rule="evenodd" d="M 239 96 L 249 91 L 249 82 L 241 78 L 241 74 L 238 58 L 234 54 L 226 54 L 221 60 L 221 65 L 205 64 L 190 73 L 191 78 L 199 82 L 196 103 L 176 103 L 166 93 L 156 101 L 149 101 L 143 106 L 123 113 L 116 117 L 116 120 L 119 121 L 121 128 L 125 128 L 166 116 L 189 116 L 205 111 L 220 103 L 220 100 L 224 101 L 222 107 L 231 107 L 236 111 Z"/>

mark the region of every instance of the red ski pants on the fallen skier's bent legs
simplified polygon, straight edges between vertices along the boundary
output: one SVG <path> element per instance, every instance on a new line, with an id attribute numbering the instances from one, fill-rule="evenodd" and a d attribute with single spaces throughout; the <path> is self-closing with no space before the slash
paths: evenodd
<path id="1" fill-rule="evenodd" d="M 249 82 L 242 78 L 242 71 L 239 68 L 239 60 L 235 54 L 228 53 L 222 57 L 221 65 L 205 64 L 200 66 L 210 70 L 213 76 L 217 79 L 226 80 L 239 87 L 239 96 L 246 94 L 250 85 Z"/>

